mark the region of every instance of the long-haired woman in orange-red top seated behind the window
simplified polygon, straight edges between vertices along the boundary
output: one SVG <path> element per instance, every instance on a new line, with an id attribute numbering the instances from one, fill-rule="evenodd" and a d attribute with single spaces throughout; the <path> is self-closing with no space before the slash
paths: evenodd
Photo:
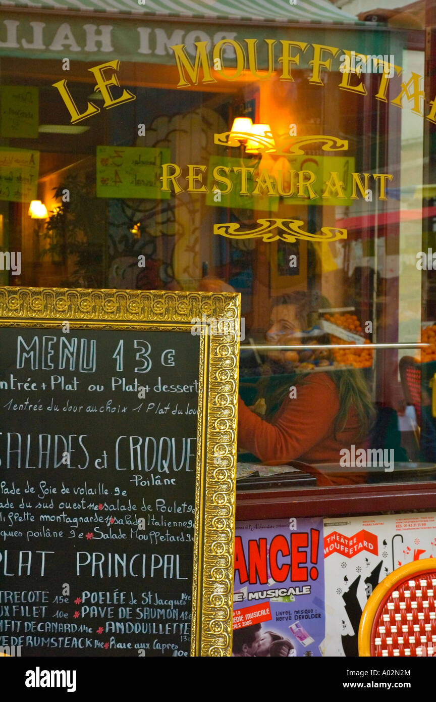
<path id="1" fill-rule="evenodd" d="M 274 298 L 266 343 L 313 343 L 316 337 L 309 336 L 309 331 L 319 322 L 317 309 L 327 306 L 325 298 L 318 295 L 317 300 L 317 293 L 297 291 Z M 323 355 L 322 363 L 328 366 L 329 350 L 322 349 L 322 340 L 329 343 L 328 336 L 321 336 L 315 355 Z M 275 366 L 273 373 L 278 367 L 281 373 L 290 373 L 292 362 L 300 361 L 301 369 L 305 353 L 271 350 L 268 357 Z M 252 409 L 239 398 L 239 451 L 250 451 L 269 465 L 292 460 L 339 464 L 341 449 L 350 449 L 352 444 L 356 450 L 366 447 L 375 411 L 360 369 L 295 373 L 291 380 L 283 375 L 259 381 L 261 387 Z M 344 475 L 336 482 L 362 482 L 362 476 L 356 476 L 355 469 L 353 472 L 348 479 Z"/>

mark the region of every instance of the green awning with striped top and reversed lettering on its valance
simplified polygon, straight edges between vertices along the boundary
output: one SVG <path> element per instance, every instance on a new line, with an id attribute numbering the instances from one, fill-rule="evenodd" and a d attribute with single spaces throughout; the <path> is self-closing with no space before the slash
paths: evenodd
<path id="1" fill-rule="evenodd" d="M 212 47 L 224 38 L 252 38 L 259 40 L 261 67 L 267 62 L 264 40 L 287 37 L 358 53 L 394 53 L 386 32 L 374 31 L 372 22 L 350 17 L 327 0 L 296 0 L 296 5 L 288 0 L 142 1 L 147 6 L 136 0 L 0 0 L 0 57 L 95 63 L 117 58 L 175 66 L 171 47 L 176 44 L 185 44 L 193 60 L 196 41 Z M 243 14 L 249 8 L 251 21 Z M 299 69 L 308 67 L 310 58 L 304 53 Z M 229 52 L 226 59 L 231 66 Z"/>

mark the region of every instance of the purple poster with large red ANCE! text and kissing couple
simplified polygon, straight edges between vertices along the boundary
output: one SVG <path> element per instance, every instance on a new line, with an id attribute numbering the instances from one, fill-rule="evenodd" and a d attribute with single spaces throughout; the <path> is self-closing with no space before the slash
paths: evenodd
<path id="1" fill-rule="evenodd" d="M 321 656 L 322 519 L 237 522 L 233 656 Z"/>

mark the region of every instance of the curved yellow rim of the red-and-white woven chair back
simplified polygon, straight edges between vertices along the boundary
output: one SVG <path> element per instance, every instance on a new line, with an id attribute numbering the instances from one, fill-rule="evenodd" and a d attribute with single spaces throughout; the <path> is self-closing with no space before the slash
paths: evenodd
<path id="1" fill-rule="evenodd" d="M 371 657 L 371 633 L 374 626 L 374 618 L 388 592 L 393 590 L 397 583 L 406 580 L 406 578 L 419 574 L 423 575 L 430 571 L 436 574 L 436 558 L 423 558 L 421 561 L 412 561 L 395 569 L 377 585 L 372 595 L 369 596 L 360 618 L 358 636 L 360 657 Z"/>

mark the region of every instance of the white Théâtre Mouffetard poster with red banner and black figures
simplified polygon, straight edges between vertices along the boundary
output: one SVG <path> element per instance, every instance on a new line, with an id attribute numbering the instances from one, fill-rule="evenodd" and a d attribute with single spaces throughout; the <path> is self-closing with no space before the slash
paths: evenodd
<path id="1" fill-rule="evenodd" d="M 356 656 L 376 585 L 405 563 L 436 557 L 436 513 L 324 520 L 325 656 Z"/>

